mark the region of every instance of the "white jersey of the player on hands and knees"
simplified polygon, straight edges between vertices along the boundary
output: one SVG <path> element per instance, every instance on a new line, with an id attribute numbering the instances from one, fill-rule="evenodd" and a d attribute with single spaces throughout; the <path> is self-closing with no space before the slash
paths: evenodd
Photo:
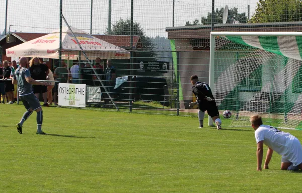
<path id="1" fill-rule="evenodd" d="M 292 142 L 295 136 L 269 125 L 260 125 L 255 131 L 255 138 L 257 143 L 263 141 L 269 148 L 287 157 L 292 153 Z"/>

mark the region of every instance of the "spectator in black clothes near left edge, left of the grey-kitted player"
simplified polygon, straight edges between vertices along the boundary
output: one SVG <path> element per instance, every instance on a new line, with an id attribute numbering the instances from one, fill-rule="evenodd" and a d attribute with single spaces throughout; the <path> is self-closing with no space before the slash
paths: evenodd
<path id="1" fill-rule="evenodd" d="M 9 80 L 11 77 L 11 72 L 12 69 L 11 67 L 9 67 L 9 63 L 8 61 L 4 61 L 4 69 L 3 69 L 3 79 L 4 80 Z M 8 104 L 13 104 L 13 100 L 14 100 L 14 85 L 12 84 L 12 81 L 5 81 L 4 82 L 5 85 L 5 94 L 9 99 L 9 103 Z"/>

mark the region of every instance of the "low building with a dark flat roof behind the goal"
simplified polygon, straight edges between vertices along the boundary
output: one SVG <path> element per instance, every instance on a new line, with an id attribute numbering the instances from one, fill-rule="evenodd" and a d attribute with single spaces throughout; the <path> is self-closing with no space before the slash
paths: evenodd
<path id="1" fill-rule="evenodd" d="M 209 49 L 211 25 L 168 27 L 168 39 L 172 51 L 174 69 L 178 70 L 181 88 L 181 107 L 188 107 L 193 101 L 189 77 L 197 74 L 200 81 L 209 79 Z M 302 22 L 261 23 L 261 24 L 215 24 L 214 31 L 226 32 L 301 32 Z"/>

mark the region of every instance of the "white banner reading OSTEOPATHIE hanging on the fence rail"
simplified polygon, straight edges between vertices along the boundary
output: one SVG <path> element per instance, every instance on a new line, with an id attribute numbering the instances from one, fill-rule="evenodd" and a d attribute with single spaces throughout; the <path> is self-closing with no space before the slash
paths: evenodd
<path id="1" fill-rule="evenodd" d="M 59 83 L 59 105 L 68 107 L 86 107 L 86 85 Z"/>

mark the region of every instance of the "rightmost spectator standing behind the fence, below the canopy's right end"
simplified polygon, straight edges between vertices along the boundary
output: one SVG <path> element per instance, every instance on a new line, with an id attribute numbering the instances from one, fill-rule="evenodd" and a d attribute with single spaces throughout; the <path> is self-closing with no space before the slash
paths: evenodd
<path id="1" fill-rule="evenodd" d="M 113 97 L 113 89 L 115 87 L 115 78 L 116 78 L 116 72 L 115 68 L 112 65 L 112 60 L 107 60 L 107 68 L 105 69 L 105 86 L 110 94 L 111 97 Z M 105 93 L 104 96 L 104 108 L 107 107 L 109 104 L 110 98 L 107 93 Z"/>

